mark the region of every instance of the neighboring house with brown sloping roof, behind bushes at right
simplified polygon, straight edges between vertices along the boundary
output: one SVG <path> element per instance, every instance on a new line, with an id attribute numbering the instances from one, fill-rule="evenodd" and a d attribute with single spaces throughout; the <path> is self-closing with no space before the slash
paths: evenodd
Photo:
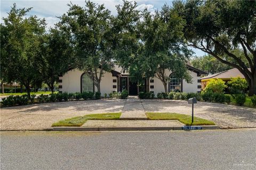
<path id="1" fill-rule="evenodd" d="M 248 69 L 251 70 L 250 68 L 248 68 Z M 244 78 L 244 75 L 237 68 L 233 68 L 233 69 L 230 69 L 230 70 L 226 70 L 226 71 L 218 72 L 216 74 L 212 74 L 212 75 L 209 75 L 209 76 L 202 77 L 201 78 L 202 90 L 204 90 L 207 83 L 209 83 L 209 81 L 211 79 L 217 79 L 218 78 L 218 79 L 222 79 L 224 82 L 228 82 L 231 77 Z"/>

